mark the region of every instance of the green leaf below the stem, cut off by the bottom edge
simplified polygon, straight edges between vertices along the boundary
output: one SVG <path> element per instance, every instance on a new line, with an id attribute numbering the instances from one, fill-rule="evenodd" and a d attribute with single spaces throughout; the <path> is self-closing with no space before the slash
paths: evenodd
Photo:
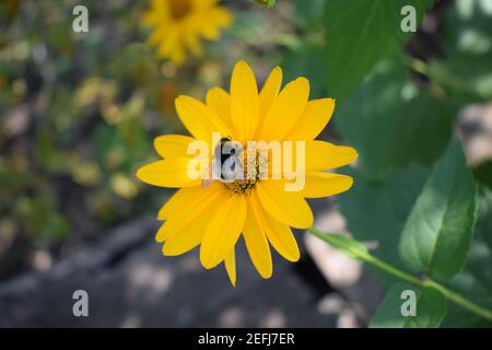
<path id="1" fill-rule="evenodd" d="M 415 315 L 403 316 L 411 299 L 405 291 L 414 292 Z M 402 294 L 403 293 L 403 294 Z M 446 315 L 446 299 L 435 289 L 418 289 L 396 283 L 386 294 L 370 323 L 371 328 L 436 328 Z"/>

